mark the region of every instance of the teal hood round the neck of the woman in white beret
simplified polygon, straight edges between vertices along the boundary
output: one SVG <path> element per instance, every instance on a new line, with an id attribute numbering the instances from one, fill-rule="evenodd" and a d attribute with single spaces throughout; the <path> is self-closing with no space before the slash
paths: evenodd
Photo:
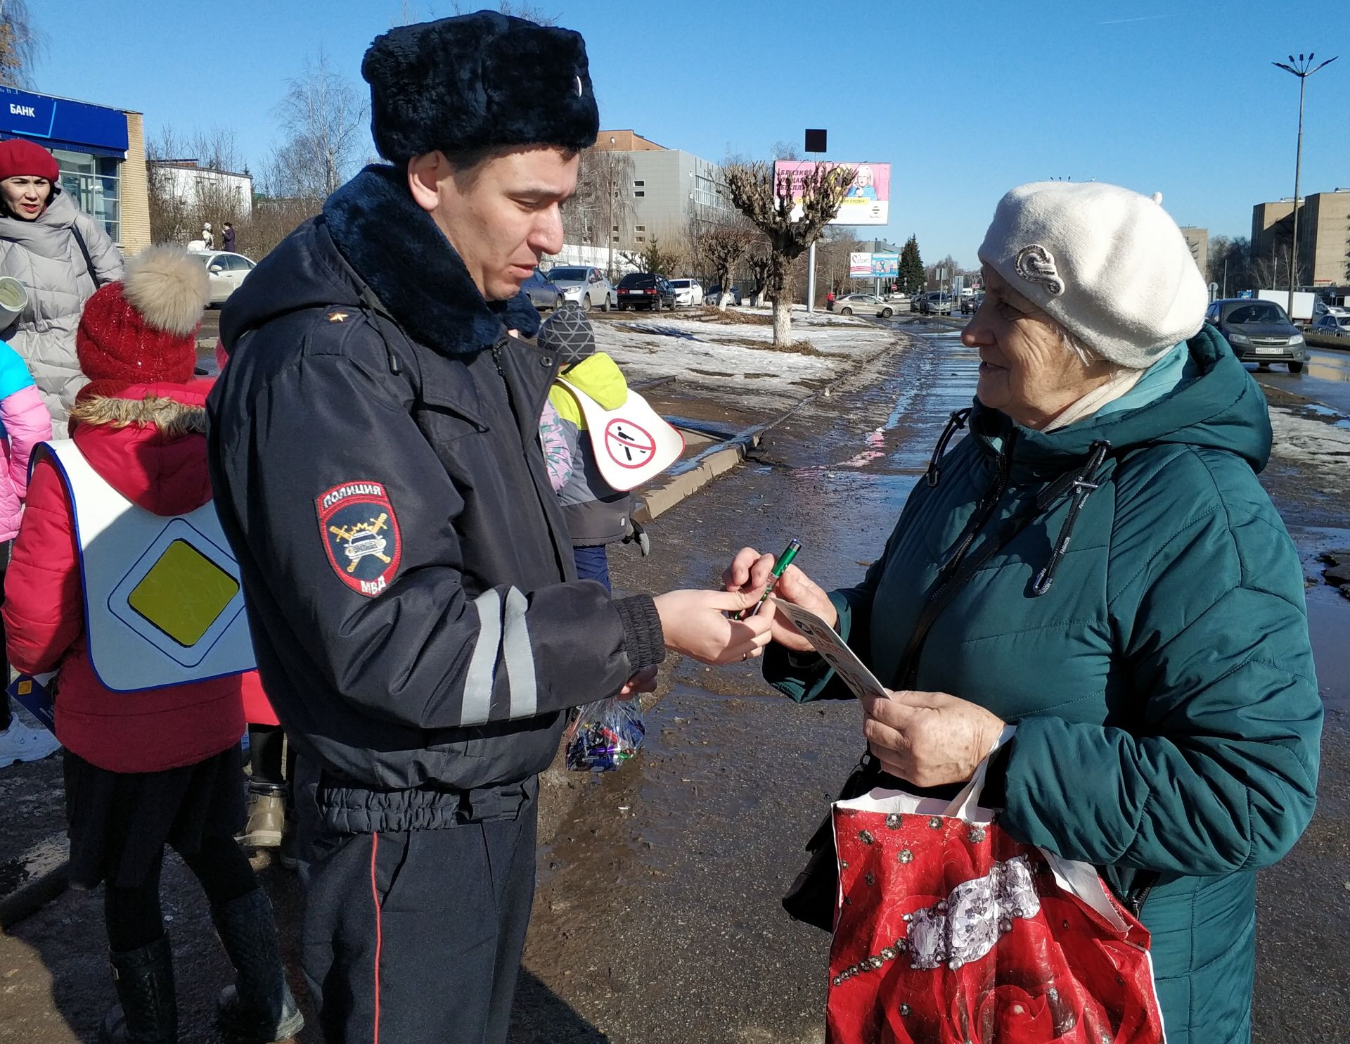
<path id="1" fill-rule="evenodd" d="M 1226 450 L 1260 473 L 1270 459 L 1270 415 L 1260 385 L 1210 325 L 1187 340 L 1187 350 L 1199 373 L 1138 409 L 1042 432 L 976 400 L 971 429 L 992 452 L 992 442 L 1015 428 L 1014 462 L 1030 466 L 1081 462 L 1104 439 L 1112 454 L 1154 443 Z"/>

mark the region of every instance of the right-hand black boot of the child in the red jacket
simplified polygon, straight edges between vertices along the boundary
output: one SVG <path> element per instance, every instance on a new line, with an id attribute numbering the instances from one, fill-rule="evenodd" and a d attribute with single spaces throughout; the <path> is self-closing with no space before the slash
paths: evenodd
<path id="1" fill-rule="evenodd" d="M 238 972 L 235 985 L 221 990 L 216 1002 L 221 1030 L 250 1044 L 293 1037 L 304 1028 L 305 1017 L 286 985 L 267 894 L 256 889 L 224 906 L 212 906 L 211 920 Z"/>

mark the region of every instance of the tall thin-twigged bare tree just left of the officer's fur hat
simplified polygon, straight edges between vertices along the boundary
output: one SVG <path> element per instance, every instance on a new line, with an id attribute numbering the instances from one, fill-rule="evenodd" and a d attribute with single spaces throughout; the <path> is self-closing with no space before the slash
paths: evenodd
<path id="1" fill-rule="evenodd" d="M 304 73 L 288 81 L 275 109 L 285 140 L 267 165 L 269 194 L 324 200 L 347 180 L 362 149 L 366 104 L 319 51 Z"/>

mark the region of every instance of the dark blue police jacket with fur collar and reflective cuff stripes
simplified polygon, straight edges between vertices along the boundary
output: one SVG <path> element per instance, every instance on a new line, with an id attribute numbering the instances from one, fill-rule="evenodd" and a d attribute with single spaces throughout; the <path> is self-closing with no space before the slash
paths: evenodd
<path id="1" fill-rule="evenodd" d="M 576 579 L 539 446 L 556 361 L 508 324 L 539 315 L 485 303 L 392 167 L 333 193 L 223 312 L 216 506 L 329 829 L 516 814 L 562 712 L 664 655 L 649 597 Z"/>

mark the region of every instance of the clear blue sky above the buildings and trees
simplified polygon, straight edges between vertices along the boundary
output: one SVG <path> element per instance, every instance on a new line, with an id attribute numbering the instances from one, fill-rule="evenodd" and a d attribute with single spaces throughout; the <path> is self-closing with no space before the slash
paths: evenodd
<path id="1" fill-rule="evenodd" d="M 40 0 L 32 86 L 138 109 L 147 131 L 221 126 L 258 163 L 288 77 L 323 47 L 359 85 L 370 41 L 451 0 Z M 473 3 L 463 4 L 474 9 Z M 1350 22 L 1334 5 L 1100 0 L 544 0 L 587 41 L 606 128 L 707 159 L 829 130 L 832 159 L 892 163 L 891 226 L 965 265 L 999 196 L 1048 177 L 1161 190 L 1181 224 L 1246 235 L 1293 193 L 1297 81 L 1270 65 L 1345 55 L 1308 81 L 1303 192 L 1350 188 Z M 1320 12 L 1320 14 L 1318 14 Z M 860 231 L 860 236 L 869 235 Z"/>

